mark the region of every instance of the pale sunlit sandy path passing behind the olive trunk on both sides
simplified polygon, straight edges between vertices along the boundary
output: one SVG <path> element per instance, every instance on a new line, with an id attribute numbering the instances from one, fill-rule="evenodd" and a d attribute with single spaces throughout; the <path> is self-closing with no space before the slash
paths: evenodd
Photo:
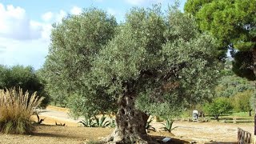
<path id="1" fill-rule="evenodd" d="M 39 113 L 40 118 L 46 118 L 43 122 L 48 125 L 55 125 L 57 123 L 66 123 L 66 126 L 81 126 L 78 124 L 82 118 L 74 120 L 70 118 L 69 114 L 65 110 L 54 110 L 54 108 L 47 108 L 46 110 L 41 110 Z M 161 122 L 151 123 L 157 129 L 154 134 L 160 134 L 160 128 L 162 127 Z M 243 130 L 253 133 L 254 124 L 230 124 L 222 122 L 174 122 L 176 129 L 172 131 L 175 138 L 186 139 L 188 141 L 195 141 L 198 143 L 207 142 L 237 142 L 238 127 Z M 151 132 L 153 133 L 153 132 Z M 165 134 L 162 134 L 165 135 Z"/>

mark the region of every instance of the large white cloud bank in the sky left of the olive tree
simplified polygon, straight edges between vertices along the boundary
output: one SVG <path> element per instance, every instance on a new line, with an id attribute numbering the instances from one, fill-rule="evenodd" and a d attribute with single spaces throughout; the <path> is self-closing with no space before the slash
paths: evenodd
<path id="1" fill-rule="evenodd" d="M 69 11 L 79 14 L 82 10 L 74 6 Z M 22 7 L 0 3 L 0 64 L 40 68 L 48 54 L 51 24 L 62 22 L 66 15 L 65 10 L 46 11 L 41 15 L 42 22 L 38 22 L 29 18 Z"/>

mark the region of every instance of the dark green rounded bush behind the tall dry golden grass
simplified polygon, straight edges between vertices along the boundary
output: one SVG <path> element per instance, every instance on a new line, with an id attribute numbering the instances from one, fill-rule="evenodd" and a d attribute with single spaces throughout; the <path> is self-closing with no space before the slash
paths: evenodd
<path id="1" fill-rule="evenodd" d="M 0 89 L 21 88 L 30 94 L 37 92 L 39 97 L 44 97 L 42 107 L 50 102 L 50 98 L 44 90 L 45 82 L 31 66 L 2 66 L 0 65 Z"/>

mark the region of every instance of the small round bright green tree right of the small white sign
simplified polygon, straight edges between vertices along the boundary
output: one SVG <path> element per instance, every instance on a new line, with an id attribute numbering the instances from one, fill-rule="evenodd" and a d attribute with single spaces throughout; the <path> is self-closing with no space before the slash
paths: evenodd
<path id="1" fill-rule="evenodd" d="M 230 114 L 230 111 L 233 110 L 233 106 L 229 98 L 218 97 L 214 98 L 213 102 L 206 103 L 204 109 L 207 114 L 218 120 L 220 115 Z"/>

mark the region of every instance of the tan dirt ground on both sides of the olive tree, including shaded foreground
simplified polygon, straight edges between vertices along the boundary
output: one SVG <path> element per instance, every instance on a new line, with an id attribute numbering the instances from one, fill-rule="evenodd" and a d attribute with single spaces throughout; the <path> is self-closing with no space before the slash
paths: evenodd
<path id="1" fill-rule="evenodd" d="M 35 127 L 35 134 L 0 134 L 0 144 L 82 144 L 89 140 L 99 140 L 106 137 L 113 130 L 110 128 L 82 127 L 78 124 L 79 119 L 67 118 L 65 110 L 44 111 L 39 116 L 46 119 L 43 125 Z M 35 116 L 32 119 L 36 121 Z M 55 126 L 55 122 L 58 124 L 65 123 L 66 126 Z M 157 131 L 150 131 L 150 135 L 180 139 L 184 140 L 183 143 L 237 143 L 238 127 L 250 133 L 254 131 L 253 123 L 174 122 L 174 127 L 177 127 L 172 131 L 172 134 L 169 134 L 161 130 L 161 122 L 153 122 L 151 125 Z"/>

